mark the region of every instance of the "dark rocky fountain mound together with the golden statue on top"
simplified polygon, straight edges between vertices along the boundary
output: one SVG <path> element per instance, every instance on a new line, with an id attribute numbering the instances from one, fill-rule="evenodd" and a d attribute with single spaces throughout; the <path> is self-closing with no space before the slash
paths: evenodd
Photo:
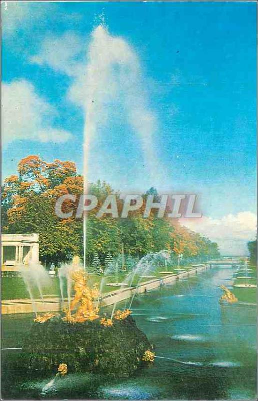
<path id="1" fill-rule="evenodd" d="M 62 312 L 63 317 L 46 313 L 34 319 L 19 358 L 20 370 L 57 373 L 61 366 L 65 369 L 60 374 L 124 377 L 144 362 L 154 361 L 151 344 L 137 328 L 130 310 L 117 310 L 112 319 L 99 316 L 94 306 L 99 297 L 97 287 L 87 285 L 88 276 L 76 261 L 68 279 L 75 292 L 69 308 Z"/>

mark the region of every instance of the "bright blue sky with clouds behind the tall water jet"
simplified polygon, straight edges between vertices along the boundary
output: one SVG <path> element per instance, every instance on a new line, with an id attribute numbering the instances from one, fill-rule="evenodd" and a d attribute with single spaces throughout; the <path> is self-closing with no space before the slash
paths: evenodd
<path id="1" fill-rule="evenodd" d="M 23 112 L 29 116 L 24 130 L 19 118 L 14 121 L 17 133 L 10 131 L 3 150 L 3 178 L 28 154 L 73 160 L 83 171 L 85 112 L 68 94 L 78 80 L 77 67 L 84 71 L 89 62 L 91 33 L 104 15 L 109 35 L 121 37 L 139 63 L 138 102 L 155 125 L 152 146 L 160 173 L 154 185 L 199 194 L 201 211 L 212 219 L 255 213 L 254 2 L 7 2 L 2 13 L 7 104 L 17 91 L 21 103 L 24 92 L 36 103 L 33 117 L 28 108 Z M 70 40 L 69 58 L 64 53 Z M 50 47 L 47 56 L 43 43 Z M 58 59 L 59 46 L 64 51 Z M 108 107 L 108 122 L 92 141 L 89 177 L 144 191 L 152 181 L 140 139 L 124 118 L 123 104 L 113 99 Z"/>

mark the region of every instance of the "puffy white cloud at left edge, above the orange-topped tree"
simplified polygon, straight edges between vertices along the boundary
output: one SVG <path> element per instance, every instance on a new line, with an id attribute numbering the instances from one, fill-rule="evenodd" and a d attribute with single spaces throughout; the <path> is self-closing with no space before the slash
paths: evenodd
<path id="1" fill-rule="evenodd" d="M 56 109 L 26 80 L 2 83 L 1 130 L 3 144 L 27 139 L 66 142 L 71 134 L 52 126 Z"/>

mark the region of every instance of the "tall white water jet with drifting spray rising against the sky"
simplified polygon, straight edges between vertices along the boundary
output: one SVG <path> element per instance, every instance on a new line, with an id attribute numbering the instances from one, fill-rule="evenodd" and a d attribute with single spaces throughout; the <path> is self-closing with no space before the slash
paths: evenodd
<path id="1" fill-rule="evenodd" d="M 84 124 L 84 194 L 88 193 L 89 157 L 92 143 L 101 140 L 101 133 L 114 118 L 114 108 L 120 107 L 123 120 L 128 124 L 140 141 L 144 154 L 144 164 L 148 169 L 151 184 L 160 182 L 162 168 L 157 158 L 157 146 L 154 136 L 158 132 L 157 118 L 150 109 L 149 99 L 144 88 L 141 65 L 134 49 L 124 39 L 110 35 L 103 24 L 97 26 L 91 35 L 87 53 L 85 80 L 80 86 L 84 93 L 82 102 L 85 111 Z M 110 144 L 109 144 L 110 146 Z M 91 178 L 96 172 L 99 178 L 105 176 L 107 160 L 103 146 L 96 146 L 97 151 L 91 165 Z M 90 151 L 91 150 L 91 151 Z M 99 158 L 99 161 L 98 161 Z M 102 168 L 102 171 L 98 171 Z M 158 176 L 159 175 L 159 176 Z M 146 177 L 146 170 L 144 171 Z M 83 214 L 83 266 L 86 268 L 87 215 Z"/>

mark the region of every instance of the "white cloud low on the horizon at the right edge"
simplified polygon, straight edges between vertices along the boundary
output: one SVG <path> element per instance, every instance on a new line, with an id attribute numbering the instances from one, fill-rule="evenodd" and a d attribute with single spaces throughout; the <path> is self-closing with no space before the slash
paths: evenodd
<path id="1" fill-rule="evenodd" d="M 184 226 L 216 241 L 224 255 L 247 254 L 247 242 L 256 235 L 257 216 L 249 211 L 229 214 L 221 219 L 204 216 L 201 219 L 180 220 Z"/>

